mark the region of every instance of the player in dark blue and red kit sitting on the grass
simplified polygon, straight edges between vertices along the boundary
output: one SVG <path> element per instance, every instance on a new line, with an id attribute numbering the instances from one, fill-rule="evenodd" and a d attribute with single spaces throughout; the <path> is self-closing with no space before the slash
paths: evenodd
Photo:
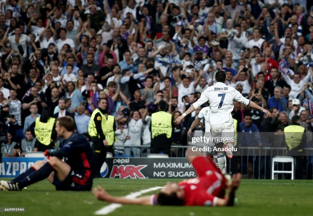
<path id="1" fill-rule="evenodd" d="M 57 190 L 91 190 L 94 175 L 94 156 L 87 139 L 74 132 L 75 123 L 69 116 L 58 118 L 55 130 L 64 141 L 58 151 L 46 150 L 49 160 L 37 161 L 12 181 L 0 181 L 0 190 L 19 191 L 47 178 Z M 64 159 L 64 162 L 62 161 Z"/>

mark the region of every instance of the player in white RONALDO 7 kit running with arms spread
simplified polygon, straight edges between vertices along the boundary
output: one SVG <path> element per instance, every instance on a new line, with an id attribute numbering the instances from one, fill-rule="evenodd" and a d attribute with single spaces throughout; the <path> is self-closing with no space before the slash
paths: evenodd
<path id="1" fill-rule="evenodd" d="M 233 87 L 225 85 L 225 71 L 218 70 L 215 75 L 215 80 L 217 83 L 202 92 L 200 98 L 193 103 L 185 113 L 179 116 L 175 122 L 180 124 L 185 116 L 197 110 L 202 104 L 209 101 L 211 108 L 211 112 L 209 112 L 210 130 L 212 137 L 215 138 L 215 144 L 218 147 L 233 147 L 235 129 L 233 126 L 233 117 L 231 112 L 234 108 L 234 100 L 237 100 L 251 108 L 258 109 L 267 114 L 269 117 L 271 116 L 271 113 L 255 104 L 253 101 L 246 99 Z M 233 153 L 231 151 L 226 151 L 226 154 L 229 158 L 233 157 Z M 225 167 L 223 152 L 218 153 L 217 160 L 220 167 Z M 222 168 L 222 170 L 225 173 L 224 168 Z"/>

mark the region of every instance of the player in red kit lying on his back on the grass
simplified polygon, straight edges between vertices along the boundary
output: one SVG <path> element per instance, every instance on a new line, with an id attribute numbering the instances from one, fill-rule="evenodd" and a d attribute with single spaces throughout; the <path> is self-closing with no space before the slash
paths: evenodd
<path id="1" fill-rule="evenodd" d="M 234 174 L 232 181 L 227 182 L 221 170 L 216 167 L 212 160 L 205 156 L 192 156 L 195 153 L 198 152 L 192 152 L 189 148 L 187 150 L 187 159 L 192 163 L 198 177 L 183 180 L 179 183 L 167 183 L 158 194 L 134 199 L 114 197 L 100 186 L 95 188 L 93 193 L 100 200 L 121 204 L 232 206 L 235 190 L 239 187 L 241 174 Z M 225 198 L 226 187 L 228 196 Z"/>

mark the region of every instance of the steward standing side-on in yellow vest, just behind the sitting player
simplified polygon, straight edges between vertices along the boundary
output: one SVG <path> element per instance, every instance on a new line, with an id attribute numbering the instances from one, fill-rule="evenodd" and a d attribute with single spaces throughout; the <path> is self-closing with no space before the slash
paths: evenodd
<path id="1" fill-rule="evenodd" d="M 100 177 L 100 169 L 105 162 L 106 153 L 113 153 L 115 120 L 114 116 L 108 113 L 107 100 L 100 98 L 98 108 L 92 112 L 88 125 L 88 133 L 93 142 L 92 150 L 95 155 L 97 177 Z"/>

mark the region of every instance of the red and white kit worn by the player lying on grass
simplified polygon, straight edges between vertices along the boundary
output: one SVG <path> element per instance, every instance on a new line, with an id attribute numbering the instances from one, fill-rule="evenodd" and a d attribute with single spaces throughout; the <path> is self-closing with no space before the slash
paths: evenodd
<path id="1" fill-rule="evenodd" d="M 192 166 L 198 177 L 178 183 L 185 192 L 186 206 L 215 206 L 217 198 L 225 195 L 226 178 L 215 163 L 205 156 L 193 159 Z M 151 205 L 157 205 L 157 194 L 151 196 Z"/>

